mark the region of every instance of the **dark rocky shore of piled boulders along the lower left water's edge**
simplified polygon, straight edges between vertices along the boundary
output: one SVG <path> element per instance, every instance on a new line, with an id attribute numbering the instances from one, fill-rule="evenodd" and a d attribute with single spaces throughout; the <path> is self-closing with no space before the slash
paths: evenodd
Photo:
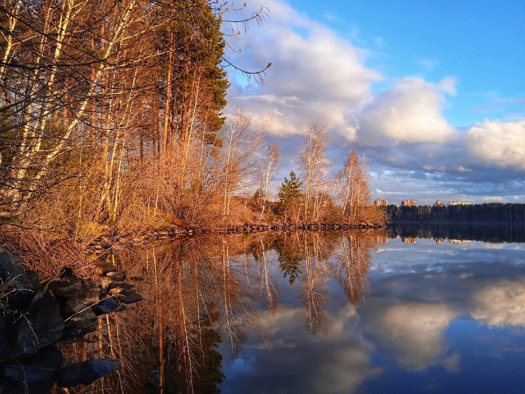
<path id="1" fill-rule="evenodd" d="M 122 312 L 143 298 L 116 266 L 96 265 L 97 282 L 63 268 L 57 280 L 40 284 L 35 272 L 0 247 L 0 392 L 40 394 L 55 383 L 89 385 L 117 368 L 108 359 L 62 365 L 57 347 L 85 341 L 98 316 Z"/>

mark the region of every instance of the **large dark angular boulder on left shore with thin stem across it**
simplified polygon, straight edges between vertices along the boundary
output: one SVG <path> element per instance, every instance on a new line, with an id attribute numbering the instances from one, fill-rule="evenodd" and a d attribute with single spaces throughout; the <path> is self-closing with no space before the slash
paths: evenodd
<path id="1" fill-rule="evenodd" d="M 17 354 L 28 353 L 57 342 L 62 331 L 64 319 L 60 316 L 59 305 L 53 294 L 45 292 L 31 301 L 24 317 L 14 324 L 10 337 Z"/>

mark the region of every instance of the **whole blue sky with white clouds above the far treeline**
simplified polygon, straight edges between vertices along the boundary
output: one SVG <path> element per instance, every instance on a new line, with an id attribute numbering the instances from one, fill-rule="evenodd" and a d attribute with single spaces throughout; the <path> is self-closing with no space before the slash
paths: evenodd
<path id="1" fill-rule="evenodd" d="M 525 1 L 246 3 L 266 20 L 239 28 L 228 44 L 241 53 L 227 56 L 272 66 L 264 84 L 227 69 L 225 113 L 239 106 L 254 127 L 271 116 L 275 185 L 299 172 L 318 122 L 332 174 L 351 149 L 370 162 L 372 200 L 525 203 Z"/>

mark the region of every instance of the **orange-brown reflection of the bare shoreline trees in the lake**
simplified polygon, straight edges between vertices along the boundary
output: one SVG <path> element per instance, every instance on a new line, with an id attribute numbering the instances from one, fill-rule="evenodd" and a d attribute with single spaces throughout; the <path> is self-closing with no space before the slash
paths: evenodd
<path id="1" fill-rule="evenodd" d="M 276 312 L 276 274 L 297 288 L 307 329 L 324 333 L 331 324 L 325 307 L 329 279 L 337 279 L 355 304 L 367 287 L 375 240 L 374 234 L 354 232 L 258 233 L 121 251 L 116 263 L 144 278 L 138 287 L 145 299 L 99 318 L 88 343 L 67 346 L 70 361 L 119 360 L 113 376 L 72 391 L 217 393 L 224 379 L 218 346 L 224 341 L 235 353 L 249 332 L 258 333 L 258 299 Z"/>

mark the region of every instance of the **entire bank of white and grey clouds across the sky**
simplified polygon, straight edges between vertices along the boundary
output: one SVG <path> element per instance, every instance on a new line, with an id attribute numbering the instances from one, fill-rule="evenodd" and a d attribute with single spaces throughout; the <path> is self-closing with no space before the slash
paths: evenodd
<path id="1" fill-rule="evenodd" d="M 300 138 L 310 122 L 318 121 L 327 122 L 333 135 L 332 173 L 351 148 L 366 154 L 372 171 L 393 173 L 372 180 L 378 190 L 373 198 L 403 194 L 432 203 L 436 198 L 455 200 L 462 193 L 472 203 L 487 195 L 503 201 L 516 195 L 516 201 L 525 202 L 525 120 L 487 120 L 456 128 L 443 112 L 457 94 L 453 77 L 388 80 L 390 88 L 374 92 L 372 84 L 385 78 L 365 66 L 374 56 L 370 39 L 360 39 L 357 30 L 343 39 L 281 0 L 268 0 L 265 6 L 270 10 L 267 23 L 230 42 L 243 49 L 230 59 L 246 70 L 269 62 L 272 67 L 264 85 L 248 84 L 246 76 L 230 68 L 224 112 L 240 105 L 254 125 L 272 114 L 268 141 L 281 148 L 280 180 L 297 170 Z M 450 188 L 458 192 L 442 192 Z"/>

